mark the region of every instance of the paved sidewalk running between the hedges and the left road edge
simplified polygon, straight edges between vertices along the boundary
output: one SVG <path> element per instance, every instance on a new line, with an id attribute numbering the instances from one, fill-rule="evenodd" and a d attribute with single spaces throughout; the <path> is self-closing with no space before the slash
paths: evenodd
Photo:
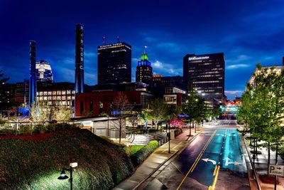
<path id="1" fill-rule="evenodd" d="M 166 167 L 166 162 L 175 156 L 181 149 L 183 149 L 187 144 L 190 143 L 190 139 L 195 137 L 200 132 L 201 128 L 197 128 L 197 133 L 195 129 L 191 129 L 192 136 L 189 137 L 190 130 L 183 132 L 178 135 L 175 139 L 170 140 L 170 154 L 168 153 L 168 142 L 162 146 L 155 149 L 142 164 L 139 166 L 134 174 L 128 179 L 122 181 L 120 184 L 114 187 L 114 190 L 128 190 L 136 189 L 136 187 L 145 181 L 148 176 L 151 176 L 155 171 L 161 171 Z"/>

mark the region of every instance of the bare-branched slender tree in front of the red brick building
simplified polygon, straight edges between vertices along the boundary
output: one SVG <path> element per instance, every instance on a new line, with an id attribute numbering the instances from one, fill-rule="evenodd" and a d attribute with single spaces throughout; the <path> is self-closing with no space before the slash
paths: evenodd
<path id="1" fill-rule="evenodd" d="M 114 98 L 114 102 L 111 106 L 113 115 L 117 120 L 113 121 L 114 127 L 119 130 L 119 144 L 121 143 L 121 132 L 126 125 L 127 114 L 131 112 L 131 105 L 129 105 L 129 99 L 124 93 L 119 94 Z M 125 131 L 125 129 L 124 129 Z"/>

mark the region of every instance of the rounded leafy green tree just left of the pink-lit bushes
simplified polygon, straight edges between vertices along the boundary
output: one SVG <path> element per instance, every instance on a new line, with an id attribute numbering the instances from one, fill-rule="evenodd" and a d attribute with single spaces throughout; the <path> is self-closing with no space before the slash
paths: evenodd
<path id="1" fill-rule="evenodd" d="M 163 99 L 154 99 L 150 102 L 149 115 L 155 124 L 155 129 L 158 130 L 158 122 L 162 121 L 168 110 L 168 106 L 164 104 Z"/>

